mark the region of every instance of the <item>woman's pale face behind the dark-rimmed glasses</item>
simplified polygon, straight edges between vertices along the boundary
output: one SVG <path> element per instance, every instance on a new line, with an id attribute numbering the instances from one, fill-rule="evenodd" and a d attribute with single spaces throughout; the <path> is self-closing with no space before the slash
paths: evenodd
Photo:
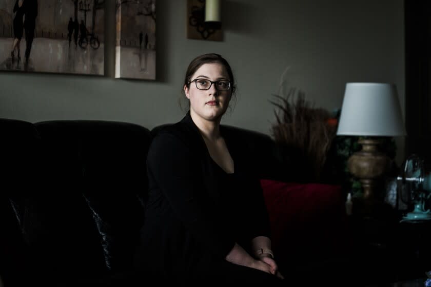
<path id="1" fill-rule="evenodd" d="M 202 65 L 192 75 L 191 80 L 194 79 L 230 80 L 226 69 L 219 63 Z M 184 86 L 184 92 L 190 100 L 190 114 L 213 121 L 220 119 L 226 112 L 232 94 L 232 87 L 227 91 L 219 91 L 215 88 L 215 83 L 213 83 L 209 90 L 199 90 L 196 84 L 192 82 L 190 83 L 190 88 Z"/>

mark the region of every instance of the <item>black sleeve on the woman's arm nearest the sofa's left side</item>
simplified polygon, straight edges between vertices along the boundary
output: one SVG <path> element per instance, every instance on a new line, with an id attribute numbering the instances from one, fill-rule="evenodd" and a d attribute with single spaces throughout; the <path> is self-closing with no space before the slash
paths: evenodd
<path id="1" fill-rule="evenodd" d="M 235 240 L 229 227 L 211 212 L 214 209 L 199 185 L 201 167 L 192 158 L 193 151 L 181 139 L 160 134 L 149 148 L 147 170 L 184 226 L 224 259 Z"/>

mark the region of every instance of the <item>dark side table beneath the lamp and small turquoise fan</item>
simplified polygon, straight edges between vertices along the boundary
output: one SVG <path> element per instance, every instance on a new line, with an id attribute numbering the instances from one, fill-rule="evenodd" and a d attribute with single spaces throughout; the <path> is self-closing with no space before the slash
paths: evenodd
<path id="1" fill-rule="evenodd" d="M 431 270 L 431 221 L 401 222 L 403 214 L 387 206 L 372 211 L 355 214 L 354 208 L 349 217 L 352 251 L 366 281 L 397 282 Z"/>

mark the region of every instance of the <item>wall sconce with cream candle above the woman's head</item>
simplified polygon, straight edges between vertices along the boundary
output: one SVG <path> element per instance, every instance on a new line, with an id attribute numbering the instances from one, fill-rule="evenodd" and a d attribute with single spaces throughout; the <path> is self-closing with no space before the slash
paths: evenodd
<path id="1" fill-rule="evenodd" d="M 222 41 L 221 0 L 187 0 L 187 38 Z"/>

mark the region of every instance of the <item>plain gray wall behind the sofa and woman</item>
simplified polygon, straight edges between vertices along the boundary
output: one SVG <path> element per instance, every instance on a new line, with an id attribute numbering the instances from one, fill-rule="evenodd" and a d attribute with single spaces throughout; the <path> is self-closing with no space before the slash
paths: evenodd
<path id="1" fill-rule="evenodd" d="M 404 112 L 402 0 L 225 0 L 223 42 L 187 39 L 186 1 L 157 0 L 155 81 L 113 78 L 114 1 L 107 2 L 106 75 L 2 72 L 0 117 L 120 120 L 150 129 L 177 121 L 185 69 L 207 52 L 226 57 L 237 77 L 225 124 L 270 134 L 268 100 L 287 67 L 286 85 L 317 107 L 340 108 L 347 82 L 378 81 L 397 85 Z"/>

